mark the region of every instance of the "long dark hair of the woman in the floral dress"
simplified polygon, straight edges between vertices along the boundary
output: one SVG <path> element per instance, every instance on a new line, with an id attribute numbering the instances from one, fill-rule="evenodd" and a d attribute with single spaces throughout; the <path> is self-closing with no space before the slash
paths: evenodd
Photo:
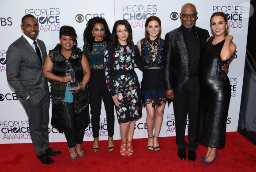
<path id="1" fill-rule="evenodd" d="M 128 35 L 128 38 L 127 38 L 127 45 L 128 47 L 130 48 L 134 48 L 134 43 L 132 41 L 132 27 L 130 25 L 130 23 L 127 21 L 127 20 L 117 20 L 113 26 L 113 31 L 112 31 L 112 34 L 111 34 L 111 44 L 114 46 L 114 47 L 118 47 L 119 44 L 119 41 L 118 41 L 118 37 L 117 37 L 117 26 L 118 25 L 124 25 L 125 26 L 125 29 L 127 29 L 129 35 Z"/>

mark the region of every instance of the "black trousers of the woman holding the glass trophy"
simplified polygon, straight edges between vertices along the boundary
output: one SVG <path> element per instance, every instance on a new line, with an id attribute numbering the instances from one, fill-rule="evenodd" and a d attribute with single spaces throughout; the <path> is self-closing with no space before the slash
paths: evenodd
<path id="1" fill-rule="evenodd" d="M 81 144 L 85 128 L 77 130 L 75 123 L 75 108 L 74 103 L 64 102 L 64 134 L 68 141 L 68 147 L 75 147 L 75 143 Z"/>

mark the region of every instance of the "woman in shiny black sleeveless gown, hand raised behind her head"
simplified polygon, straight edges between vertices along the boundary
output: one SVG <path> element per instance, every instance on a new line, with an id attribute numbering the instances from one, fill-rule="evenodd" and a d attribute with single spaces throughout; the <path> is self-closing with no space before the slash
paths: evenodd
<path id="1" fill-rule="evenodd" d="M 200 101 L 198 114 L 199 142 L 208 146 L 206 154 L 200 158 L 201 164 L 209 165 L 218 156 L 218 147 L 225 145 L 226 121 L 230 104 L 230 81 L 221 69 L 235 53 L 233 36 L 228 35 L 227 17 L 222 12 L 211 16 L 214 37 L 207 43 L 200 58 Z"/>

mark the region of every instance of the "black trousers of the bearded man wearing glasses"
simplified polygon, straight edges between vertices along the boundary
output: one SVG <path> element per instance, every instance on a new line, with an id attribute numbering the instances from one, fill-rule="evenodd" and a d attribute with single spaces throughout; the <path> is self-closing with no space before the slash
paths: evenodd
<path id="1" fill-rule="evenodd" d="M 198 77 L 191 77 L 185 85 L 182 95 L 175 94 L 173 99 L 173 110 L 176 128 L 176 144 L 178 148 L 188 147 L 188 150 L 196 150 L 198 105 L 200 97 L 200 83 Z M 188 143 L 184 140 L 186 120 L 188 114 Z"/>

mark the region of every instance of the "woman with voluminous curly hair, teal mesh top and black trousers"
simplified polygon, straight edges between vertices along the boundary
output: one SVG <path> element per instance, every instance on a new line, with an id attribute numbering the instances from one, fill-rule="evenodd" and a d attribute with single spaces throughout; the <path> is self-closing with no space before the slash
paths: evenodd
<path id="1" fill-rule="evenodd" d="M 104 125 L 100 127 L 100 115 L 102 109 L 102 100 L 104 102 L 107 131 L 108 131 L 108 150 L 114 150 L 114 103 L 109 94 L 105 80 L 104 55 L 107 45 L 110 44 L 111 33 L 104 18 L 91 18 L 83 33 L 83 54 L 90 63 L 91 75 L 88 84 L 90 113 L 92 133 L 94 137 L 93 150 L 99 151 L 99 130 L 104 129 Z"/>

